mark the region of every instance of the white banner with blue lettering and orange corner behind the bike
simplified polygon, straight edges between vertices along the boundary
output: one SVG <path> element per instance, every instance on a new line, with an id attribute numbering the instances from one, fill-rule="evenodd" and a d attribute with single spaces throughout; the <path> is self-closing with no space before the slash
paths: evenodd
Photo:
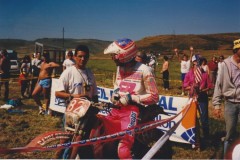
<path id="1" fill-rule="evenodd" d="M 51 101 L 50 101 L 50 109 L 64 113 L 66 109 L 65 100 L 55 97 L 55 90 L 58 79 L 52 79 L 52 88 L 51 88 Z M 109 88 L 103 88 L 98 86 L 98 100 L 103 102 L 110 102 L 110 97 L 112 95 L 113 90 Z M 188 102 L 187 97 L 173 97 L 173 96 L 164 96 L 159 95 L 159 107 L 162 107 L 169 116 L 176 115 L 186 106 Z M 192 107 L 193 108 L 193 107 Z M 175 132 L 170 137 L 170 140 L 182 143 L 192 143 L 195 142 L 195 120 L 196 120 L 196 110 L 193 108 L 189 111 L 189 114 L 183 119 L 179 127 L 175 130 Z M 169 118 L 167 115 L 158 115 L 155 119 L 161 120 Z M 167 122 L 164 125 L 158 127 L 162 131 L 168 131 L 172 128 L 177 121 L 181 119 L 181 116 L 178 116 L 173 121 Z"/>

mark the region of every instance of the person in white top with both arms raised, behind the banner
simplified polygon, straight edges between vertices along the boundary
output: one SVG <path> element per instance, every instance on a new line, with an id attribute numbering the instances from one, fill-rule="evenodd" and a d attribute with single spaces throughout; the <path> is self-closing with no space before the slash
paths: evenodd
<path id="1" fill-rule="evenodd" d="M 190 47 L 190 59 L 188 59 L 188 55 L 183 54 L 182 59 L 180 59 L 179 53 L 178 53 L 178 49 L 175 48 L 174 52 L 176 54 L 176 56 L 178 57 L 178 60 L 180 61 L 181 64 L 181 80 L 182 80 L 182 96 L 184 96 L 184 87 L 183 87 L 183 82 L 184 82 L 184 78 L 186 76 L 186 74 L 189 72 L 190 67 L 191 67 L 191 59 L 192 59 L 192 55 L 193 55 L 193 47 Z"/>

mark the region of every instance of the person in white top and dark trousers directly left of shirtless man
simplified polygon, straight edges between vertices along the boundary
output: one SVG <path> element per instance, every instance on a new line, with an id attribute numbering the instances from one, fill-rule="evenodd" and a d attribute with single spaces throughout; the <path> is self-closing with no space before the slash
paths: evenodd
<path id="1" fill-rule="evenodd" d="M 41 60 L 41 54 L 40 52 L 34 53 L 33 54 L 33 59 L 32 59 L 32 80 L 31 80 L 31 94 L 30 97 L 32 95 L 32 92 L 37 84 L 38 81 L 38 76 L 40 73 L 40 69 L 41 69 L 41 64 L 42 64 L 42 60 Z"/>

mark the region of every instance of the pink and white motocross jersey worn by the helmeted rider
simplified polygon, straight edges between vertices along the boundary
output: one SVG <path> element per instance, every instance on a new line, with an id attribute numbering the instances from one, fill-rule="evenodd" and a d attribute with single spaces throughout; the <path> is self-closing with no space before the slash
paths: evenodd
<path id="1" fill-rule="evenodd" d="M 155 104 L 159 100 L 158 89 L 153 73 L 150 68 L 137 62 L 133 68 L 117 68 L 114 89 L 119 88 L 120 95 L 139 96 L 143 105 Z"/>

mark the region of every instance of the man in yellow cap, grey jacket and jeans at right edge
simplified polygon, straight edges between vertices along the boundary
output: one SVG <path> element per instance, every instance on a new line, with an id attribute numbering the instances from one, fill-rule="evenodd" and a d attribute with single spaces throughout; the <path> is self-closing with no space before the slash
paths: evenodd
<path id="1" fill-rule="evenodd" d="M 224 100 L 226 136 L 224 154 L 235 139 L 238 115 L 240 114 L 240 39 L 233 41 L 233 55 L 221 63 L 214 88 L 212 104 L 214 115 L 221 117 L 221 102 Z"/>

